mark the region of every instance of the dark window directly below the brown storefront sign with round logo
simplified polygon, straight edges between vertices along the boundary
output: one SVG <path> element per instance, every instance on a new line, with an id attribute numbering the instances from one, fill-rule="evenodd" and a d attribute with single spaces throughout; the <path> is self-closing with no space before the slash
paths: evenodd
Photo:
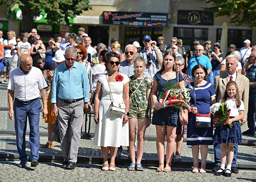
<path id="1" fill-rule="evenodd" d="M 203 44 L 208 38 L 208 29 L 174 28 L 173 32 L 175 37 L 183 40 L 185 46 L 192 46 L 194 40 L 199 40 Z"/>

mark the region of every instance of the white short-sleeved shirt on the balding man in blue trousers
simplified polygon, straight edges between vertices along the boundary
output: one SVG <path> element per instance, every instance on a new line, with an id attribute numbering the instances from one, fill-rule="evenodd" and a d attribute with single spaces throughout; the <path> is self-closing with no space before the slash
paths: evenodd
<path id="1" fill-rule="evenodd" d="M 25 74 L 20 68 L 10 73 L 7 89 L 14 90 L 14 97 L 21 101 L 30 101 L 40 96 L 40 89 L 47 87 L 42 71 L 32 67 L 31 71 Z"/>

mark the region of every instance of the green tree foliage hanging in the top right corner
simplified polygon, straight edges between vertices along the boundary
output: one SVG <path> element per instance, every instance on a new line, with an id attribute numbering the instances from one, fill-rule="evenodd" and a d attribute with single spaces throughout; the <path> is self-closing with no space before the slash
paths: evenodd
<path id="1" fill-rule="evenodd" d="M 215 16 L 229 16 L 230 23 L 249 25 L 256 30 L 256 1 L 255 0 L 207 0 L 212 4 L 204 10 L 212 11 Z"/>

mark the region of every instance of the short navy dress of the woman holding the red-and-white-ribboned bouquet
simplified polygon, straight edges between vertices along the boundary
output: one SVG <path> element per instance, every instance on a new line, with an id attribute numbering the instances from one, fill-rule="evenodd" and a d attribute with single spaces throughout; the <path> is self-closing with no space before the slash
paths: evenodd
<path id="1" fill-rule="evenodd" d="M 157 80 L 158 84 L 158 95 L 157 100 L 159 101 L 160 98 L 160 92 L 166 92 L 167 85 L 175 85 L 177 84 L 177 74 L 176 72 L 176 78 L 172 80 L 164 80 L 162 76 L 162 72 L 157 72 L 154 75 L 154 79 Z M 179 73 L 179 81 L 184 80 L 181 73 Z M 155 110 L 153 112 L 153 118 L 152 118 L 152 124 L 159 125 L 159 126 L 168 126 L 168 127 L 177 127 L 177 121 L 178 121 L 178 113 L 179 110 L 177 108 L 173 107 L 166 107 L 160 110 Z"/>

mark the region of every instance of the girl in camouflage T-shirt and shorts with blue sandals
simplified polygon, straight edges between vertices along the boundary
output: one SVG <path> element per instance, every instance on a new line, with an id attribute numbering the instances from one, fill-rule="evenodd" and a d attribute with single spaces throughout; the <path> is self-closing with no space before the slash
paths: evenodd
<path id="1" fill-rule="evenodd" d="M 150 90 L 151 80 L 144 76 L 145 60 L 143 57 L 137 57 L 134 60 L 135 74 L 130 77 L 129 81 L 129 153 L 132 163 L 128 170 L 143 170 L 141 158 L 144 152 L 144 137 L 146 128 L 151 123 L 151 104 Z M 135 138 L 136 125 L 138 120 L 137 131 L 137 161 L 135 161 Z"/>

